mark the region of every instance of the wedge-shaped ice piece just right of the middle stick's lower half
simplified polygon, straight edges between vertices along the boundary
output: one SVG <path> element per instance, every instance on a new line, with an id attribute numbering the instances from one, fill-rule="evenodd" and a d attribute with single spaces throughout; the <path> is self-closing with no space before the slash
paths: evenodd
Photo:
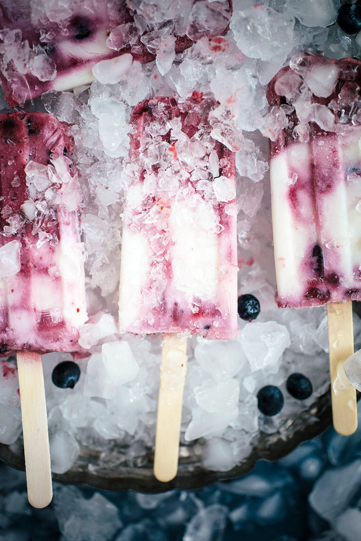
<path id="1" fill-rule="evenodd" d="M 192 441 L 212 432 L 223 430 L 238 417 L 238 407 L 229 411 L 209 413 L 202 407 L 196 407 L 193 412 L 191 423 L 187 426 L 185 440 Z"/>

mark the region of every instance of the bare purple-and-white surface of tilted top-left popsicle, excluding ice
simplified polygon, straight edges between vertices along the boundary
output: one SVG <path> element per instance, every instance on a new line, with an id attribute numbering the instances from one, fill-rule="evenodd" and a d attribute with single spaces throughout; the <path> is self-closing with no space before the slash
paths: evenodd
<path id="1" fill-rule="evenodd" d="M 198 1 L 195 0 L 195 3 Z M 73 15 L 59 23 L 49 21 L 33 23 L 30 19 L 31 8 L 27 2 L 20 4 L 21 7 L 17 11 L 9 8 L 5 0 L 0 0 L 0 38 L 1 31 L 5 31 L 3 45 L 0 39 L 0 80 L 5 98 L 11 107 L 39 97 L 47 90 L 71 90 L 81 84 L 93 82 L 95 77 L 92 68 L 101 60 L 125 53 L 132 54 L 133 59 L 142 64 L 155 60 L 155 55 L 148 51 L 145 44 L 140 41 L 140 37 L 135 43 L 126 44 L 120 50 L 108 47 L 107 38 L 112 28 L 124 24 L 133 25 L 135 29 L 135 25 L 134 12 L 128 8 L 125 0 L 116 0 L 111 11 L 108 11 L 107 4 L 108 2 L 104 0 L 104 4 L 99 4 L 92 12 L 79 3 Z M 226 9 L 224 12 L 230 18 L 232 0 L 229 0 L 228 4 L 228 12 Z M 222 34 L 225 34 L 228 28 L 226 17 Z M 4 60 L 1 62 L 2 47 L 9 47 L 5 42 L 6 35 L 9 31 L 15 30 L 21 31 L 19 39 L 23 49 L 27 50 L 30 45 L 30 49 L 37 50 L 36 59 L 47 63 L 51 80 L 41 80 L 44 77 L 39 78 L 36 71 L 34 73 L 26 68 L 16 68 L 11 58 L 8 59 L 9 62 Z M 143 35 L 148 31 L 149 29 L 146 29 Z M 212 30 L 209 30 L 209 37 L 214 37 L 213 34 Z M 176 54 L 188 49 L 194 43 L 186 35 L 175 35 L 175 38 Z"/>

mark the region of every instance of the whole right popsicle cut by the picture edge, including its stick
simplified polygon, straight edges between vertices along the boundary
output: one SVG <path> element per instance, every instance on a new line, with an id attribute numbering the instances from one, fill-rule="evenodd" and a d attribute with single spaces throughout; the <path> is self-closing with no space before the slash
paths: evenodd
<path id="1" fill-rule="evenodd" d="M 333 382 L 353 353 L 352 300 L 361 300 L 361 63 L 301 51 L 268 85 L 288 125 L 270 142 L 279 307 L 327 303 L 333 424 L 357 427 L 356 393 Z"/>

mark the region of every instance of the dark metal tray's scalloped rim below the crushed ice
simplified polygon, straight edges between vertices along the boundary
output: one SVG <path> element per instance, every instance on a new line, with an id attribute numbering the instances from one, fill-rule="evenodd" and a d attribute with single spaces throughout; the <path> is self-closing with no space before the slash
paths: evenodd
<path id="1" fill-rule="evenodd" d="M 201 463 L 201 445 L 197 441 L 191 445 L 180 446 L 179 469 L 176 477 L 169 483 L 157 481 L 153 475 L 153 451 L 146 457 L 134 459 L 133 466 L 99 467 L 101 451 L 81 446 L 80 455 L 74 466 L 63 474 L 54 473 L 52 478 L 59 483 L 86 485 L 102 491 L 134 490 L 145 493 L 166 492 L 174 489 L 198 489 L 219 480 L 245 476 L 253 470 L 258 460 L 278 460 L 294 450 L 303 441 L 310 440 L 326 430 L 332 423 L 330 391 L 321 395 L 308 410 L 285 423 L 274 434 L 259 433 L 252 452 L 240 464 L 227 472 L 207 470 Z M 12 448 L 0 444 L 0 459 L 17 470 L 25 470 L 22 437 Z M 117 453 L 121 448 L 114 447 Z"/>

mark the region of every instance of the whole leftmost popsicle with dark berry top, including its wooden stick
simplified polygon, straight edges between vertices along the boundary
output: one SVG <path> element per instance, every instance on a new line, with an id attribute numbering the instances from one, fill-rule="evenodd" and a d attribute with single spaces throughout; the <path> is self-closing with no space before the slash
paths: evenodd
<path id="1" fill-rule="evenodd" d="M 0 134 L 0 354 L 17 352 L 28 497 L 44 507 L 52 486 L 40 354 L 80 351 L 80 195 L 67 126 L 43 113 L 1 114 Z"/>

